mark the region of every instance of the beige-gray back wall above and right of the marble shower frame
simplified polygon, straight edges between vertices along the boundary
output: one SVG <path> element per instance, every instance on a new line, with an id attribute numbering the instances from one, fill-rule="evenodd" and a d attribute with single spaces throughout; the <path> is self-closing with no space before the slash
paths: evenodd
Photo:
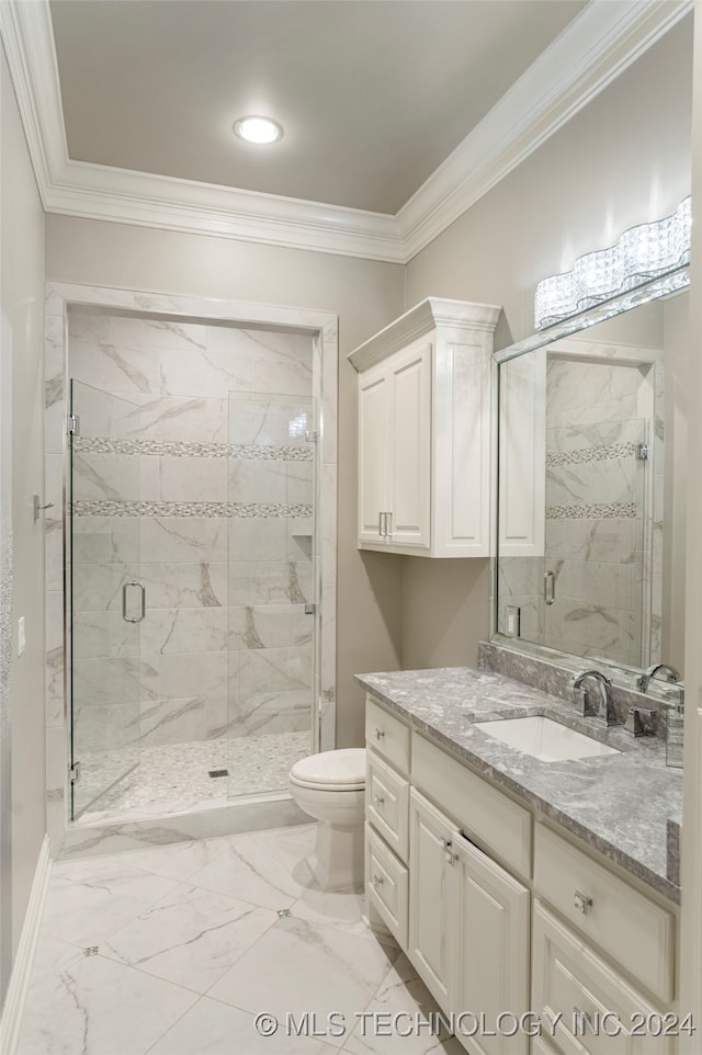
<path id="1" fill-rule="evenodd" d="M 396 669 L 401 563 L 355 547 L 356 374 L 347 354 L 403 311 L 404 269 L 224 238 L 46 218 L 46 275 L 117 286 L 313 308 L 339 316 L 339 746 L 362 738 L 354 671 Z"/>

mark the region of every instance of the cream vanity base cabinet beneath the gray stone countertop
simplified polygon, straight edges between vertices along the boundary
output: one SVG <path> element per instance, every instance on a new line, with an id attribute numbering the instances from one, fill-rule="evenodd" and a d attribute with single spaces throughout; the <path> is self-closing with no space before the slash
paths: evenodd
<path id="1" fill-rule="evenodd" d="M 673 1055 L 675 906 L 370 696 L 366 745 L 369 906 L 442 1011 L 483 1013 L 469 1055 Z"/>

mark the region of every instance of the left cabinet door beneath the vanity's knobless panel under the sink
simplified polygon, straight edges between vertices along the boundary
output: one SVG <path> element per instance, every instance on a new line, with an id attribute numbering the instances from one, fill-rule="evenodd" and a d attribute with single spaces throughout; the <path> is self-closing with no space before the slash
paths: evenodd
<path id="1" fill-rule="evenodd" d="M 408 956 L 445 1011 L 450 1005 L 452 903 L 451 846 L 458 829 L 426 798 L 409 793 Z"/>

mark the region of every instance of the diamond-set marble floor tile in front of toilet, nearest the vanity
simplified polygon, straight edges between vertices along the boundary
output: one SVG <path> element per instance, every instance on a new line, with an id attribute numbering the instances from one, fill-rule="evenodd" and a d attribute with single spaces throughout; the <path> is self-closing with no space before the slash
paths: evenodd
<path id="1" fill-rule="evenodd" d="M 371 934 L 295 917 L 280 919 L 208 991 L 208 996 L 279 1022 L 309 1012 L 318 1022 L 339 1014 L 355 1021 L 392 966 L 395 953 Z M 261 987 L 261 978 L 267 978 Z M 340 1047 L 344 1035 L 328 1036 Z"/>

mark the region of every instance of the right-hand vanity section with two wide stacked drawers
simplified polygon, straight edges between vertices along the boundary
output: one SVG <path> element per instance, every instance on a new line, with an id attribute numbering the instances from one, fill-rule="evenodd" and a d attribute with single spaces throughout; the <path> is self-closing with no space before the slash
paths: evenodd
<path id="1" fill-rule="evenodd" d="M 565 1012 L 555 1050 L 670 1055 L 675 914 L 543 824 L 534 894 L 532 1002 Z"/>

